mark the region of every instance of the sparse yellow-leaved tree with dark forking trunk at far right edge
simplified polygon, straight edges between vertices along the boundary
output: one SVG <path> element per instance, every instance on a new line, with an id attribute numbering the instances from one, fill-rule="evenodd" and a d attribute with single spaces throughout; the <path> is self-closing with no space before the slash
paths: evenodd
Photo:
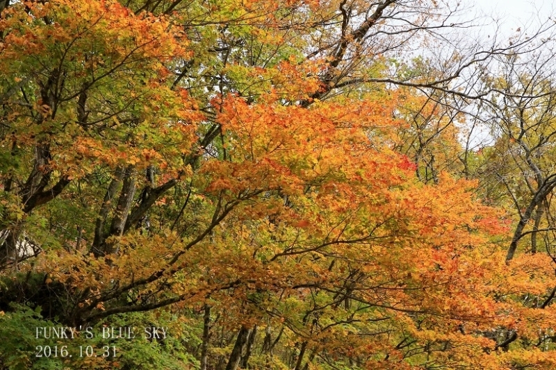
<path id="1" fill-rule="evenodd" d="M 500 60 L 499 76 L 491 83 L 504 94 L 493 97 L 489 117 L 496 142 L 487 155 L 486 173 L 499 183 L 518 215 L 518 223 L 509 245 L 507 260 L 512 260 L 518 242 L 530 235 L 530 251 L 537 251 L 537 237 L 551 229 L 550 199 L 556 182 L 550 150 L 556 131 L 554 124 L 553 72 L 550 51 L 525 59 L 510 55 Z M 548 228 L 539 231 L 541 222 Z M 532 222 L 532 230 L 526 230 Z M 551 243 L 547 240 L 546 246 Z M 550 251 L 549 251 L 550 253 Z"/>

